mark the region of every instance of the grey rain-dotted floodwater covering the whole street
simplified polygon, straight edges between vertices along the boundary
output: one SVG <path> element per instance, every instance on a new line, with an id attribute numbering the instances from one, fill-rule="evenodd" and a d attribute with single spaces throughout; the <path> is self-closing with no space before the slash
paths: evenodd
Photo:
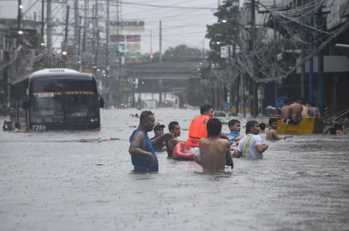
<path id="1" fill-rule="evenodd" d="M 181 128 L 198 111 L 154 110 Z M 0 132 L 0 230 L 349 230 L 348 135 L 269 141 L 224 174 L 162 152 L 141 174 L 128 154 L 139 111 L 101 113 L 99 132 Z"/>

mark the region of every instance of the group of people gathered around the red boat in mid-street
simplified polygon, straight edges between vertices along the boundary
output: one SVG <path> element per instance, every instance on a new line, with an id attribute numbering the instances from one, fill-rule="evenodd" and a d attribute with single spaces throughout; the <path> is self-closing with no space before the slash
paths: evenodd
<path id="1" fill-rule="evenodd" d="M 155 151 L 167 151 L 168 157 L 173 157 L 173 149 L 179 142 L 186 145 L 199 147 L 200 158 L 198 163 L 202 165 L 203 172 L 224 172 L 225 165 L 233 167 L 232 157 L 235 158 L 263 158 L 263 152 L 268 144 L 262 143 L 258 135 L 265 131 L 265 124 L 251 120 L 246 124 L 246 135 L 242 135 L 241 123 L 232 119 L 228 123 L 230 133 L 222 132 L 222 122 L 213 118 L 213 106 L 204 104 L 200 107 L 200 114 L 192 121 L 189 128 L 189 138 L 180 140 L 180 125 L 172 121 L 168 125 L 169 133 L 164 133 L 165 125 L 155 125 L 155 117 L 151 111 L 143 111 L 140 115 L 140 124 L 132 133 L 129 141 L 129 153 L 131 154 L 134 171 L 158 171 L 158 161 Z M 261 126 L 262 125 L 262 126 Z M 277 120 L 269 120 L 267 140 L 280 140 L 276 133 Z M 151 139 L 148 132 L 154 131 Z"/>

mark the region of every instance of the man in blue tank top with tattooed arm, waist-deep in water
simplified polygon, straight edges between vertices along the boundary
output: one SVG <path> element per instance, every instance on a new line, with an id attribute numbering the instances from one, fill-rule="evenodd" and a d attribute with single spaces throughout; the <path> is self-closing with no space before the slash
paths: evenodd
<path id="1" fill-rule="evenodd" d="M 134 171 L 137 172 L 157 172 L 159 163 L 153 145 L 163 140 L 173 140 L 174 135 L 166 133 L 150 140 L 148 132 L 153 131 L 155 126 L 154 113 L 143 111 L 140 116 L 139 126 L 130 136 L 130 147 L 128 152 L 131 154 L 131 161 Z"/>

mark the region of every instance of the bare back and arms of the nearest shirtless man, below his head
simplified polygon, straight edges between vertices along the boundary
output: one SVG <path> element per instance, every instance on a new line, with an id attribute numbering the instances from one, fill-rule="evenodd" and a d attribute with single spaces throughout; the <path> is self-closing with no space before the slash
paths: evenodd
<path id="1" fill-rule="evenodd" d="M 228 140 L 218 139 L 218 136 L 200 139 L 199 148 L 203 173 L 225 172 L 226 161 L 232 162 Z"/>

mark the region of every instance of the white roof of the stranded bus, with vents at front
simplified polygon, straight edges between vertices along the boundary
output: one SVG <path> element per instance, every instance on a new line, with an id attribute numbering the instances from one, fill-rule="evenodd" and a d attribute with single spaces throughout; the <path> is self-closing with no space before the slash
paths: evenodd
<path id="1" fill-rule="evenodd" d="M 30 79 L 33 80 L 60 80 L 60 79 L 70 79 L 70 80 L 94 80 L 95 77 L 92 74 L 81 73 L 76 70 L 67 69 L 67 68 L 50 68 L 50 69 L 42 69 L 36 72 L 33 72 L 23 79 L 15 81 L 12 84 L 21 82 L 23 80 Z"/>

